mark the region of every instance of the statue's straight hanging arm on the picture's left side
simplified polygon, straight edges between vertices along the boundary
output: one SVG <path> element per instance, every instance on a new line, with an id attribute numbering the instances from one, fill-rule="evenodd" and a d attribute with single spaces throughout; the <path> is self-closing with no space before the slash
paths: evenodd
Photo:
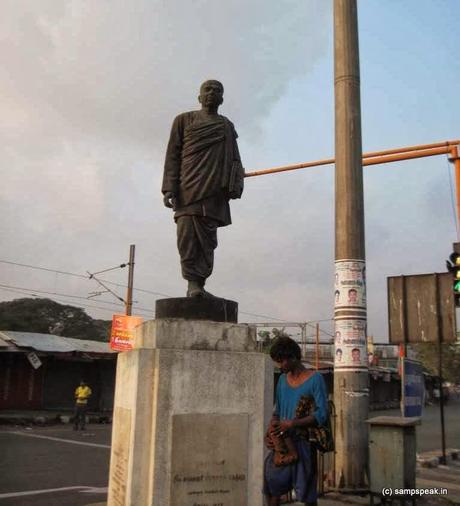
<path id="1" fill-rule="evenodd" d="M 172 124 L 168 148 L 166 150 L 163 184 L 161 186 L 166 207 L 175 207 L 175 199 L 179 191 L 183 131 L 183 116 L 179 115 L 174 119 Z"/>

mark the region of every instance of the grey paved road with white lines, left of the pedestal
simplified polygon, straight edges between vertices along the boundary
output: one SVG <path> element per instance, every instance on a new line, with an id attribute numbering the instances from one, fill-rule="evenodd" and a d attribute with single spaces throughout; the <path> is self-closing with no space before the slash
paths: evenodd
<path id="1" fill-rule="evenodd" d="M 81 506 L 105 500 L 110 437 L 108 425 L 90 425 L 83 432 L 71 425 L 2 428 L 0 505 Z"/>

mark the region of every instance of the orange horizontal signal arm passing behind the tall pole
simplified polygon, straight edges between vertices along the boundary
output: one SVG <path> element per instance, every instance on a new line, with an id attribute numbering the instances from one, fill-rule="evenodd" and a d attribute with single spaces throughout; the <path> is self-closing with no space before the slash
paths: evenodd
<path id="1" fill-rule="evenodd" d="M 410 160 L 413 158 L 423 158 L 425 156 L 436 156 L 447 154 L 452 151 L 452 146 L 460 145 L 460 140 L 436 142 L 432 144 L 421 144 L 419 146 L 408 146 L 405 148 L 387 149 L 385 151 L 374 151 L 363 153 L 363 165 L 377 165 L 381 163 L 398 162 Z M 321 165 L 331 165 L 335 162 L 334 158 L 316 160 L 313 162 L 297 163 L 294 165 L 284 165 L 270 169 L 256 170 L 247 172 L 245 177 L 262 176 L 265 174 L 275 174 L 278 172 L 288 172 L 291 170 L 306 169 L 309 167 L 319 167 Z"/>

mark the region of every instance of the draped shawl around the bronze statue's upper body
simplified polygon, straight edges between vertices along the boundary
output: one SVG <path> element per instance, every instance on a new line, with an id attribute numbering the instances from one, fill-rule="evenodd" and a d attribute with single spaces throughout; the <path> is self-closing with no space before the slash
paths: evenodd
<path id="1" fill-rule="evenodd" d="M 239 159 L 236 137 L 224 116 L 203 117 L 196 111 L 179 115 L 166 153 L 162 191 L 176 193 L 181 207 L 228 189 L 232 163 Z"/>

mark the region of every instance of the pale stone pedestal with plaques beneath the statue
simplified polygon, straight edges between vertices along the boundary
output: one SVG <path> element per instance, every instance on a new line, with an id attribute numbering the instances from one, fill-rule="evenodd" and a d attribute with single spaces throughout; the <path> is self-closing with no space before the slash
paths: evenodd
<path id="1" fill-rule="evenodd" d="M 157 319 L 120 353 L 109 506 L 262 506 L 273 368 L 255 328 Z"/>

